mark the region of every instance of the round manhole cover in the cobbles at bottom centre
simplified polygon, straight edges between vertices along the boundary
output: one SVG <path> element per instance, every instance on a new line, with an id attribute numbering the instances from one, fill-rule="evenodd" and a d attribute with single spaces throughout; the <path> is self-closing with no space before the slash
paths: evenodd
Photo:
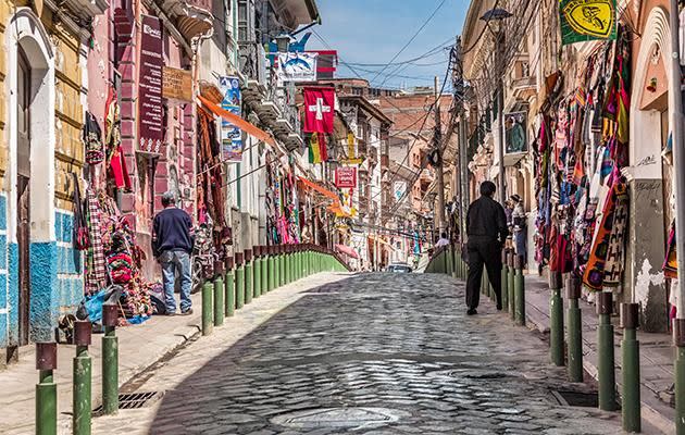
<path id="1" fill-rule="evenodd" d="M 408 417 L 408 412 L 387 408 L 319 408 L 276 415 L 272 422 L 298 428 L 369 427 L 394 423 Z"/>

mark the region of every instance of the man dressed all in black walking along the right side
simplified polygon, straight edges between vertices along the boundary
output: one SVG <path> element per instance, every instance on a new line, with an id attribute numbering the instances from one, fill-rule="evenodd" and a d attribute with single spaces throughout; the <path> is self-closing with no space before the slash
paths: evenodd
<path id="1" fill-rule="evenodd" d="M 497 296 L 497 309 L 502 309 L 502 246 L 509 235 L 503 207 L 493 199 L 495 184 L 481 184 L 481 198 L 473 201 L 466 215 L 466 252 L 469 260 L 469 279 L 466 282 L 466 307 L 469 315 L 477 314 L 481 299 L 481 279 L 483 265 Z"/>

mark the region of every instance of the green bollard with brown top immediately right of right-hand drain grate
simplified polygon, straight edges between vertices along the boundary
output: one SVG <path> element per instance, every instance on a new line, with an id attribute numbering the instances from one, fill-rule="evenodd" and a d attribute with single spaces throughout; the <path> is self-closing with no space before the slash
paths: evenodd
<path id="1" fill-rule="evenodd" d="M 616 409 L 616 380 L 613 358 L 613 325 L 611 312 L 613 300 L 610 291 L 598 295 L 597 313 L 599 325 L 597 326 L 597 352 L 599 377 L 599 409 L 602 411 L 615 411 Z"/>

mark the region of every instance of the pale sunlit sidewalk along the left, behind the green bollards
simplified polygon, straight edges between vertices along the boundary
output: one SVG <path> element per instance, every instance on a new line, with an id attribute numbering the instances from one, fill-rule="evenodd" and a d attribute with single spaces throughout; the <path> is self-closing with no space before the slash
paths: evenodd
<path id="1" fill-rule="evenodd" d="M 224 328 L 232 327 L 233 322 L 239 322 L 241 316 L 254 315 L 264 302 L 274 301 L 281 309 L 299 299 L 299 295 L 308 289 L 347 276 L 341 273 L 320 273 L 281 287 L 256 299 L 240 311 L 235 318 L 226 319 Z M 195 313 L 189 316 L 152 316 L 141 325 L 121 327 L 116 330 L 119 337 L 119 371 L 120 385 L 126 384 L 137 374 L 164 358 L 174 349 L 184 345 L 194 336 L 200 334 L 201 295 L 192 296 Z M 263 319 L 265 321 L 267 319 Z M 66 413 L 72 410 L 72 360 L 75 346 L 61 345 L 58 349 L 58 410 L 60 433 L 71 433 L 63 423 L 68 420 Z M 89 348 L 92 357 L 92 408 L 101 402 L 101 335 L 92 336 Z M 35 347 L 27 346 L 20 349 L 20 362 L 0 372 L 0 434 L 30 434 L 35 425 L 35 385 L 38 372 L 35 368 Z"/>

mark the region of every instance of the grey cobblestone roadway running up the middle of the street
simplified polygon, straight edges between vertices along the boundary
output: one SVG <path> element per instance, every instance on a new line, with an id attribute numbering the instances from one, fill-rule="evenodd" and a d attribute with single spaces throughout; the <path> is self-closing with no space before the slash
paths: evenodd
<path id="1" fill-rule="evenodd" d="M 158 402 L 94 433 L 622 433 L 619 414 L 555 402 L 551 389 L 583 386 L 534 333 L 479 311 L 466 316 L 463 285 L 443 275 L 350 275 L 233 345 L 224 327 L 182 349 L 135 385 Z"/>

